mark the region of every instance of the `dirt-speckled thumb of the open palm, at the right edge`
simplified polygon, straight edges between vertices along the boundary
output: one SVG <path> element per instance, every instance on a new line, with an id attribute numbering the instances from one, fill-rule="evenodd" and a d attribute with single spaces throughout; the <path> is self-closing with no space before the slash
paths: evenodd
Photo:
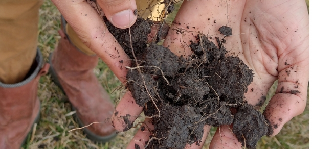
<path id="1" fill-rule="evenodd" d="M 279 56 L 276 94 L 263 113 L 270 122 L 267 134 L 269 136 L 278 134 L 287 121 L 305 109 L 309 82 L 309 44 L 308 35 L 305 34 L 308 33 L 306 28 L 298 28 L 298 32 L 306 38 L 294 41 L 291 47 L 284 49 L 283 54 Z"/>

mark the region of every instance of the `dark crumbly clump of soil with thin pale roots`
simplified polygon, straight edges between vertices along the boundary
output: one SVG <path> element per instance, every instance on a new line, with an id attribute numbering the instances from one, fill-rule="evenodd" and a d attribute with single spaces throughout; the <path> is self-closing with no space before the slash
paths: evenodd
<path id="1" fill-rule="evenodd" d="M 189 45 L 193 55 L 178 57 L 161 45 L 148 45 L 151 23 L 138 18 L 131 27 L 135 60 L 127 39 L 129 29 L 116 29 L 106 22 L 110 33 L 133 59 L 126 76 L 127 88 L 136 103 L 144 107 L 144 114 L 153 117 L 154 131 L 146 148 L 199 145 L 204 125 L 234 123 L 233 133 L 248 148 L 255 148 L 268 132 L 263 115 L 244 97 L 253 81 L 252 70 L 238 57 L 226 56 L 225 39 L 215 38 L 215 45 L 207 36 L 198 34 L 197 41 Z M 232 35 L 230 27 L 220 30 Z M 237 113 L 231 108 L 236 108 Z"/>

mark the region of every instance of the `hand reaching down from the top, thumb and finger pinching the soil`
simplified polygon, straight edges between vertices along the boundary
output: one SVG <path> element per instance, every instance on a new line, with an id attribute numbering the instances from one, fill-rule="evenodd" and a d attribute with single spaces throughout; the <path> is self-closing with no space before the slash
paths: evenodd
<path id="1" fill-rule="evenodd" d="M 135 23 L 137 18 L 137 15 L 133 14 L 133 11 L 137 9 L 136 1 L 99 0 L 97 3 L 103 11 L 100 8 L 96 8 L 96 10 L 94 8 L 96 7 L 95 5 L 92 6 L 85 0 L 52 0 L 52 2 L 82 42 L 107 64 L 120 81 L 124 82 L 127 73 L 125 66 L 130 65 L 129 57 L 114 36 L 109 33 L 99 13 L 104 12 L 105 16 L 110 18 L 109 20 L 116 27 L 128 28 Z M 94 2 L 92 1 L 91 3 L 95 4 Z M 123 11 L 124 15 L 118 13 L 120 11 Z M 114 14 L 118 16 L 116 20 L 114 19 Z M 123 63 L 119 61 L 123 61 Z"/>

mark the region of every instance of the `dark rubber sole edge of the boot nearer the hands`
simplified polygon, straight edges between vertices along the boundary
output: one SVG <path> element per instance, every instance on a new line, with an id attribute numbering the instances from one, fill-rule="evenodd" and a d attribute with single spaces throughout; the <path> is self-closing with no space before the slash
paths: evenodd
<path id="1" fill-rule="evenodd" d="M 63 87 L 61 86 L 60 82 L 58 81 L 57 78 L 57 74 L 55 72 L 55 70 L 53 69 L 53 65 L 52 65 L 52 53 L 49 56 L 49 64 L 50 64 L 50 68 L 49 68 L 49 73 L 51 74 L 51 78 L 52 81 L 62 90 L 62 92 L 66 95 Z M 72 110 L 75 111 L 75 108 L 72 105 Z M 74 118 L 76 120 L 76 122 L 78 122 L 79 127 L 84 127 L 82 121 L 80 120 L 80 118 L 78 117 L 78 115 L 75 113 L 74 114 Z M 86 137 L 92 141 L 98 142 L 98 143 L 106 143 L 109 140 L 115 138 L 117 136 L 117 131 L 108 135 L 108 136 L 99 136 L 94 134 L 93 132 L 91 132 L 89 129 L 87 129 L 87 127 L 83 128 L 83 133 L 86 134 Z"/>

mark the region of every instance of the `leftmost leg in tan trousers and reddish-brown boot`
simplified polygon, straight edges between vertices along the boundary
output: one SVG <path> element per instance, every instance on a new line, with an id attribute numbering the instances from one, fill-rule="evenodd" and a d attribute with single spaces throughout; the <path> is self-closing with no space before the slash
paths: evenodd
<path id="1" fill-rule="evenodd" d="M 49 67 L 37 49 L 41 3 L 0 2 L 0 148 L 20 148 L 40 116 L 37 86 Z"/>

